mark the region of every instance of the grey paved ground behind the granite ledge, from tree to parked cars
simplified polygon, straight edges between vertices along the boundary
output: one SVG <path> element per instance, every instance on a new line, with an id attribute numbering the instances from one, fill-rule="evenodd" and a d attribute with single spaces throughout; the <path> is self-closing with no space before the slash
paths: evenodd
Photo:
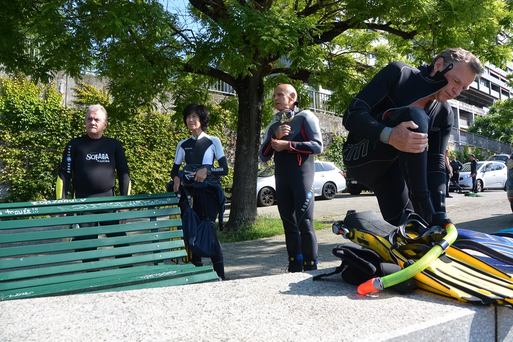
<path id="1" fill-rule="evenodd" d="M 500 229 L 513 228 L 513 214 L 503 190 L 489 190 L 483 197 L 468 197 L 452 194 L 447 198 L 447 213 L 458 228 L 492 233 Z M 338 194 L 332 200 L 316 200 L 314 219 L 333 222 L 343 219 L 347 210 L 376 210 L 379 208 L 376 196 L 372 193 L 352 196 Z M 258 208 L 259 215 L 279 217 L 278 207 Z M 229 217 L 229 206 L 225 220 Z M 340 265 L 340 259 L 333 256 L 333 247 L 347 242 L 331 229 L 317 231 L 319 244 L 319 268 L 327 269 Z M 285 272 L 288 265 L 284 235 L 223 244 L 225 270 L 228 279 L 241 279 L 255 276 L 276 275 Z"/>

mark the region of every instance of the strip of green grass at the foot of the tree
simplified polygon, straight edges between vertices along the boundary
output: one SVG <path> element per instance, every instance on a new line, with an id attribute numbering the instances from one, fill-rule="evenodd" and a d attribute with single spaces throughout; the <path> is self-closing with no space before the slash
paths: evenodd
<path id="1" fill-rule="evenodd" d="M 313 228 L 315 230 L 331 228 L 331 224 L 321 221 L 314 221 Z M 283 235 L 283 223 L 280 218 L 259 216 L 254 225 L 243 227 L 238 232 L 219 232 L 219 240 L 222 244 L 230 242 L 241 242 L 256 240 L 264 237 Z"/>

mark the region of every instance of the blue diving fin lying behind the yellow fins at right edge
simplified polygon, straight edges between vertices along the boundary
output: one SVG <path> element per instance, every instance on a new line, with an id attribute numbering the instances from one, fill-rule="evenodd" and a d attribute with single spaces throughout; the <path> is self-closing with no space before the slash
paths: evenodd
<path id="1" fill-rule="evenodd" d="M 502 234 L 502 235 L 501 235 Z M 508 237 L 508 234 L 511 234 Z M 470 249 L 491 258 L 489 264 L 513 270 L 513 233 L 486 234 L 468 229 L 458 229 L 458 238 L 452 246 L 460 249 Z"/>

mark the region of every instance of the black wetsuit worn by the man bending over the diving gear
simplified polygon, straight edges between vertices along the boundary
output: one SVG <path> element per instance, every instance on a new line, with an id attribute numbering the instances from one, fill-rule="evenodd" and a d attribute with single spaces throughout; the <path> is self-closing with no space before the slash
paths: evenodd
<path id="1" fill-rule="evenodd" d="M 393 225 L 399 224 L 405 209 L 415 209 L 429 223 L 435 213 L 445 216 L 444 155 L 454 114 L 447 103 L 436 100 L 424 109 L 410 106 L 443 89 L 448 84 L 444 73 L 451 67 L 431 77 L 427 65 L 392 62 L 354 97 L 344 114 L 349 131 L 344 165 L 376 194 L 383 218 Z M 387 144 L 389 134 L 383 133 L 410 120 L 419 126 L 417 132 L 428 134 L 427 151 L 406 153 Z"/>

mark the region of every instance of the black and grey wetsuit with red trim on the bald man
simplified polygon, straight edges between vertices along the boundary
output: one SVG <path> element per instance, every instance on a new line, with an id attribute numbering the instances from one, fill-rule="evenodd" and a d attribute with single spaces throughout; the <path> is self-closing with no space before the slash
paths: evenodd
<path id="1" fill-rule="evenodd" d="M 291 132 L 281 140 L 289 141 L 289 150 L 275 152 L 271 141 L 281 125 L 289 125 Z M 313 230 L 313 174 L 314 154 L 322 152 L 323 142 L 319 119 L 308 110 L 295 114 L 291 122 L 273 120 L 265 132 L 260 148 L 263 162 L 274 154 L 274 179 L 278 211 L 283 221 L 289 271 L 317 269 L 317 237 Z M 301 261 L 303 260 L 303 261 Z M 291 269 L 295 265 L 296 269 Z"/>

